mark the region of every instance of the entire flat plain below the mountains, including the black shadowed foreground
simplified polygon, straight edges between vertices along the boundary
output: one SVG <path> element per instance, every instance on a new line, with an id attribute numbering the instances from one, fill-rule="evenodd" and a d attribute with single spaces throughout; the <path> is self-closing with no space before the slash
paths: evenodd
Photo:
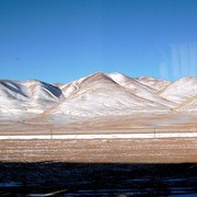
<path id="1" fill-rule="evenodd" d="M 171 118 L 172 125 L 165 124 L 167 118 L 165 121 L 161 118 L 164 124 L 157 127 L 152 124 L 154 119 L 146 119 L 141 125 L 128 117 L 118 119 L 65 125 L 1 119 L 1 137 L 44 135 L 48 139 L 0 140 L 0 194 L 197 194 L 195 117 L 190 123 L 182 124 L 174 124 Z M 182 136 L 159 138 L 163 134 Z M 190 137 L 184 137 L 185 134 Z M 70 139 L 55 139 L 62 135 L 72 136 Z M 80 135 L 104 137 L 80 139 Z M 105 138 L 105 135 L 112 138 Z M 151 135 L 151 138 L 124 138 L 129 135 Z"/>

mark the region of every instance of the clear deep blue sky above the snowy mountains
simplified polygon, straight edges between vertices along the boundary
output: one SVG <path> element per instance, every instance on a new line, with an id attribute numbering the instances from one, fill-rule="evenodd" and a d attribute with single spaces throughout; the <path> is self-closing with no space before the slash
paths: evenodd
<path id="1" fill-rule="evenodd" d="M 0 0 L 0 79 L 197 77 L 197 0 Z"/>

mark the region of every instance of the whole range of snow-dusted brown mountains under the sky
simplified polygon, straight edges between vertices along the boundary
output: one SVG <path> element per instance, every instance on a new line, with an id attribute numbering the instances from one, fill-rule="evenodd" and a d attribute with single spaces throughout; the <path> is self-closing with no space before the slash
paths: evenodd
<path id="1" fill-rule="evenodd" d="M 171 82 L 94 73 L 70 83 L 0 80 L 0 113 L 78 116 L 197 112 L 197 78 Z"/>

